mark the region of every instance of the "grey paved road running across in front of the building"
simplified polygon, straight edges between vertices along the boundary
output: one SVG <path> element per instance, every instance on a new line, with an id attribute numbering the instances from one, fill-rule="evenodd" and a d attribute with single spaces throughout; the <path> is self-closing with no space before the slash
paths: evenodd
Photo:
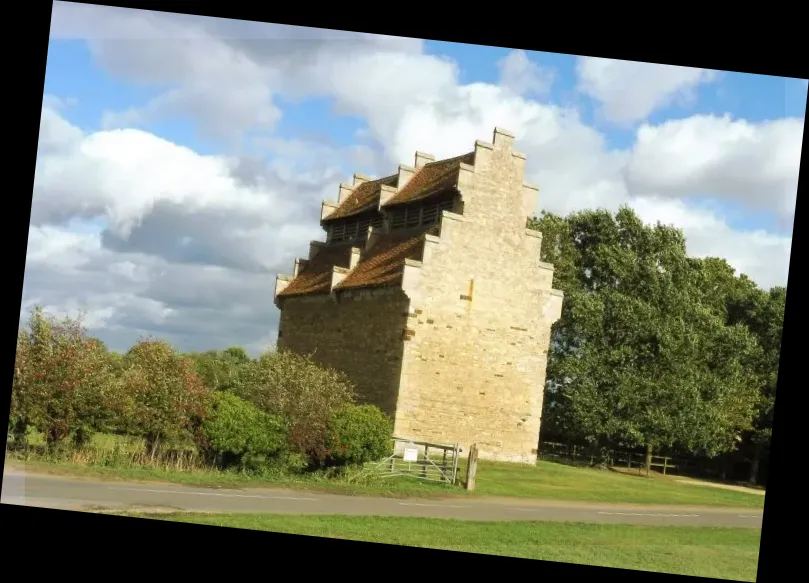
<path id="1" fill-rule="evenodd" d="M 584 504 L 517 499 L 395 499 L 276 489 L 220 490 L 26 474 L 6 469 L 0 502 L 71 510 L 412 516 L 761 528 L 759 510 Z"/>

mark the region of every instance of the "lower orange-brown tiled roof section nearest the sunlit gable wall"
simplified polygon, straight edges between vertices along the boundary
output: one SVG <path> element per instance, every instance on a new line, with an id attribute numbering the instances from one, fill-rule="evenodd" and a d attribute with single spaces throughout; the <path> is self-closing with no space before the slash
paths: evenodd
<path id="1" fill-rule="evenodd" d="M 431 229 L 432 234 L 437 229 Z M 402 281 L 405 260 L 421 261 L 424 232 L 380 235 L 379 240 L 360 258 L 360 262 L 335 289 L 397 285 Z"/>

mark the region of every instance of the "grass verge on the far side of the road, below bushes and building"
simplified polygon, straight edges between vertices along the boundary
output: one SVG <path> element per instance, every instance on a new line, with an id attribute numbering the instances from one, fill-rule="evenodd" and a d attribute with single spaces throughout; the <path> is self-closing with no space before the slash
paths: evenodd
<path id="1" fill-rule="evenodd" d="M 112 451 L 116 446 L 120 451 L 130 453 L 142 451 L 143 448 L 142 442 L 139 440 L 111 435 L 95 436 L 92 445 L 94 450 L 101 452 L 96 456 L 97 459 L 103 459 L 103 452 Z M 10 456 L 6 458 L 6 464 L 10 467 L 20 467 L 23 463 L 29 472 L 119 480 L 168 481 L 206 487 L 276 486 L 346 494 L 428 498 L 469 495 L 458 487 L 453 488 L 415 479 L 362 479 L 356 473 L 347 479 L 327 478 L 323 475 L 292 475 L 280 471 L 255 476 L 206 468 L 180 470 L 172 467 L 171 464 L 161 465 L 160 462 L 151 466 L 127 463 L 99 465 L 88 463 L 78 457 L 74 458 L 72 462 L 41 459 L 29 459 L 21 462 Z M 465 464 L 462 463 L 460 476 L 464 475 Z M 763 508 L 764 506 L 764 497 L 756 494 L 681 484 L 670 477 L 659 474 L 653 474 L 651 477 L 625 475 L 608 470 L 573 467 L 550 461 L 540 461 L 536 466 L 480 461 L 477 489 L 473 495 L 628 504 L 741 508 Z"/>

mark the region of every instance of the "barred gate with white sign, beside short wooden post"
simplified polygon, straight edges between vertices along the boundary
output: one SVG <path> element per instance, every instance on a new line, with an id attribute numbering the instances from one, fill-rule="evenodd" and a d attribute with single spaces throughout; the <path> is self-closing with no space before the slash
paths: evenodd
<path id="1" fill-rule="evenodd" d="M 394 437 L 393 455 L 371 471 L 383 478 L 408 476 L 430 482 L 455 484 L 458 479 L 459 445 L 413 441 Z"/>

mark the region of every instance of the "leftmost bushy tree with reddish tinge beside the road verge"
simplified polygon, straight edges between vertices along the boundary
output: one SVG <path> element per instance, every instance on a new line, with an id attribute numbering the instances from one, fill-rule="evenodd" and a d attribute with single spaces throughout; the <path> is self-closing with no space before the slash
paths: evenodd
<path id="1" fill-rule="evenodd" d="M 85 443 L 104 422 L 113 384 L 106 347 L 81 317 L 58 320 L 35 307 L 17 336 L 10 421 L 17 439 L 28 426 L 49 447 Z"/>

